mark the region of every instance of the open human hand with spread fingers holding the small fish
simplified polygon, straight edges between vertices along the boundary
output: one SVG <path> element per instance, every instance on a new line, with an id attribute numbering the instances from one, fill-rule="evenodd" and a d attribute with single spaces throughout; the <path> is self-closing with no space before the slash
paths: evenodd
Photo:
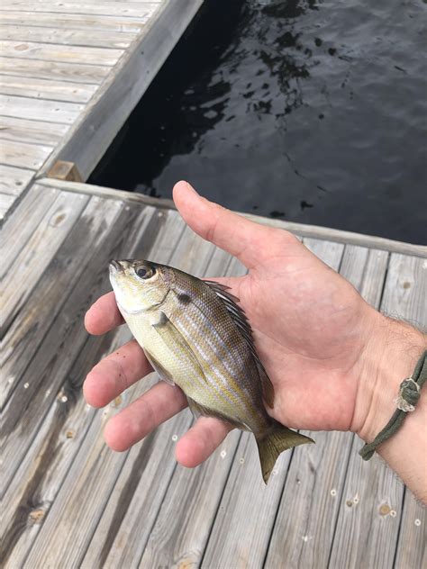
<path id="1" fill-rule="evenodd" d="M 268 412 L 296 429 L 368 430 L 367 393 L 374 390 L 373 354 L 385 317 L 287 231 L 210 203 L 185 182 L 174 188 L 174 200 L 196 233 L 249 269 L 248 275 L 217 280 L 232 288 L 250 320 L 259 357 L 275 387 Z M 94 334 L 121 323 L 113 293 L 98 299 L 86 314 L 86 329 Z M 150 371 L 132 340 L 87 375 L 86 401 L 104 406 Z M 159 383 L 109 421 L 106 441 L 124 450 L 185 406 L 179 388 Z M 214 418 L 198 419 L 177 444 L 178 462 L 200 464 L 229 429 Z"/>

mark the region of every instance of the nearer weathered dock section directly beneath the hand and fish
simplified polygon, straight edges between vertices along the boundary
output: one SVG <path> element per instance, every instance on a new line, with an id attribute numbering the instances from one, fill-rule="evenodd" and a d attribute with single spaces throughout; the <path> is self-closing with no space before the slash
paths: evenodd
<path id="1" fill-rule="evenodd" d="M 425 324 L 425 248 L 389 242 L 390 252 L 376 239 L 362 247 L 340 242 L 341 231 L 307 232 L 299 226 L 305 245 L 369 303 Z M 254 441 L 240 431 L 195 470 L 177 465 L 188 411 L 129 452 L 105 446 L 105 421 L 156 381 L 102 411 L 82 398 L 87 371 L 129 339 L 125 327 L 102 338 L 83 327 L 86 308 L 109 289 L 108 260 L 243 271 L 168 203 L 44 179 L 2 236 L 2 566 L 422 567 L 425 510 L 377 457 L 360 459 L 350 434 L 313 434 L 316 445 L 280 457 L 267 487 Z"/>

